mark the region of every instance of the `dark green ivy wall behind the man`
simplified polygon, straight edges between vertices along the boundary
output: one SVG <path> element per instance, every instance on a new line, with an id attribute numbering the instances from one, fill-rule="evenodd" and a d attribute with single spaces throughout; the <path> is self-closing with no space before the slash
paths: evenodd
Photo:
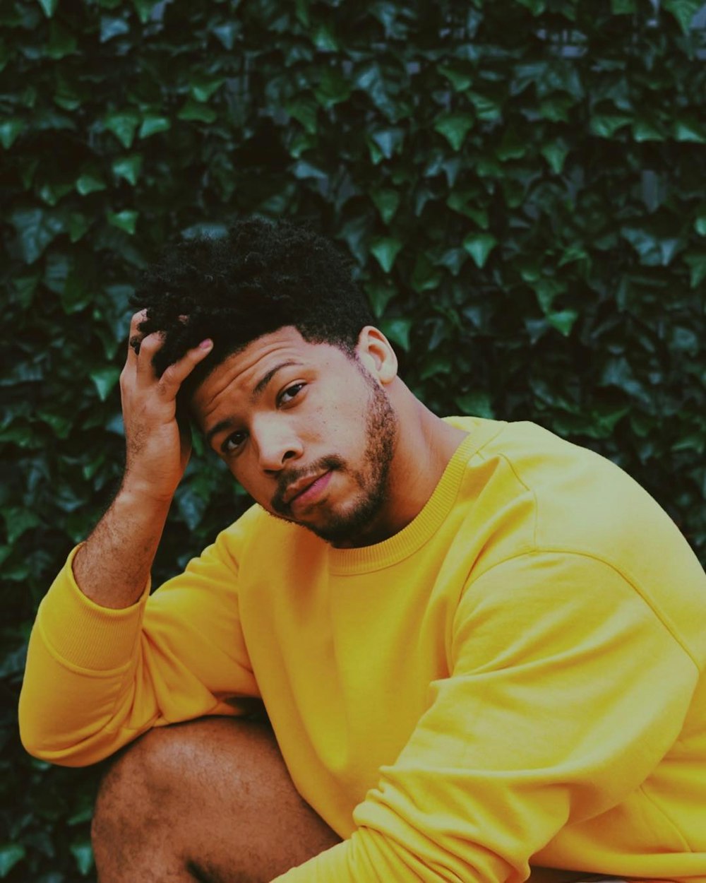
<path id="1" fill-rule="evenodd" d="M 17 697 L 34 610 L 120 476 L 126 300 L 180 232 L 311 223 L 435 411 L 597 449 L 703 551 L 701 6 L 3 4 L 0 878 L 93 875 L 97 771 L 28 758 Z M 156 577 L 244 504 L 195 457 Z"/>

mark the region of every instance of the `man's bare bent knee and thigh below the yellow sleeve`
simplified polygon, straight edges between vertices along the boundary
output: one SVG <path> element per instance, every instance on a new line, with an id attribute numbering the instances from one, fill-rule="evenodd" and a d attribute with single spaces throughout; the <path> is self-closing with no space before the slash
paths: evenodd
<path id="1" fill-rule="evenodd" d="M 297 794 L 266 723 L 155 728 L 124 752 L 94 815 L 101 883 L 259 883 L 340 838 Z"/>

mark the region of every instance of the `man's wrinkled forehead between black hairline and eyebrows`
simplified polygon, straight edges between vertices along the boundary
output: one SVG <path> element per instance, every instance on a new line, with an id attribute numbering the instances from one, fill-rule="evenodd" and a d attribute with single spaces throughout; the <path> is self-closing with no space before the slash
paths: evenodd
<path id="1" fill-rule="evenodd" d="M 267 374 L 277 366 L 293 362 L 301 366 L 320 366 L 327 370 L 348 362 L 348 356 L 330 343 L 309 343 L 297 328 L 287 326 L 258 337 L 207 375 L 192 395 L 194 416 L 203 421 L 213 413 L 224 394 L 249 396 Z M 294 369 L 293 369 L 294 370 Z"/>

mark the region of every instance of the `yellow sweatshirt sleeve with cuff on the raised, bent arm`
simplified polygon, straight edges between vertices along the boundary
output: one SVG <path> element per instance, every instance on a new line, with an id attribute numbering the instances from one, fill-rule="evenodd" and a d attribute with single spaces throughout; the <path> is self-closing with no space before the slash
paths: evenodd
<path id="1" fill-rule="evenodd" d="M 236 714 L 258 696 L 240 628 L 238 523 L 130 608 L 86 598 L 69 560 L 41 601 L 19 699 L 26 750 L 65 766 L 108 757 L 147 729 Z"/>

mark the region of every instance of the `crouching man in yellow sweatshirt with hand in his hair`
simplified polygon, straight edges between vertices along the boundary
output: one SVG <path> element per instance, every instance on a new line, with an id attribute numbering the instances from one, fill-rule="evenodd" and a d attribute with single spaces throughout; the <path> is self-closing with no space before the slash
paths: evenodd
<path id="1" fill-rule="evenodd" d="M 155 728 L 104 782 L 101 883 L 706 880 L 706 585 L 662 509 L 538 426 L 434 416 L 289 224 L 136 298 L 123 484 L 20 703 L 57 763 Z M 147 597 L 186 408 L 258 505 Z"/>

